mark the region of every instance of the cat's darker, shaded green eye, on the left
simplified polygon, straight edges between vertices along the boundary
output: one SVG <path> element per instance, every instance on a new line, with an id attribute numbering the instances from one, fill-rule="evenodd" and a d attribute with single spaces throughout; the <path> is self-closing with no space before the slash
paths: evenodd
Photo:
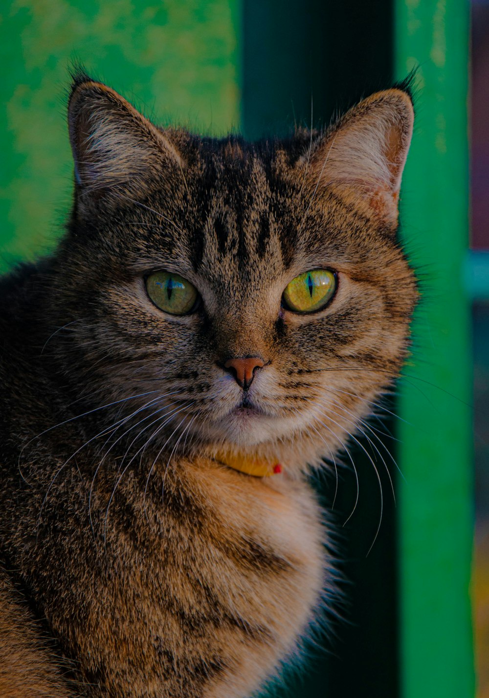
<path id="1" fill-rule="evenodd" d="M 198 294 L 190 281 L 172 272 L 155 272 L 146 278 L 146 291 L 160 310 L 187 315 L 195 308 Z"/>

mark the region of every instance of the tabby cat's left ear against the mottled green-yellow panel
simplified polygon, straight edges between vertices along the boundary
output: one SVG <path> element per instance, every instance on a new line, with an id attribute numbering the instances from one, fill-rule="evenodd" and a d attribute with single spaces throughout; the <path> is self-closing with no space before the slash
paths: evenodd
<path id="1" fill-rule="evenodd" d="M 183 168 L 176 147 L 151 121 L 110 87 L 75 77 L 68 103 L 75 180 L 84 200 L 133 198 Z"/>

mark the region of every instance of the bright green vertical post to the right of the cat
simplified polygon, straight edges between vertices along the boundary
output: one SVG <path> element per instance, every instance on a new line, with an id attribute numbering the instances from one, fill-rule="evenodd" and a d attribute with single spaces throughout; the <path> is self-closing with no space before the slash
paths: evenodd
<path id="1" fill-rule="evenodd" d="M 412 360 L 400 386 L 403 698 L 474 695 L 467 73 L 469 4 L 397 0 L 396 67 L 419 66 L 402 221 L 419 269 Z"/>

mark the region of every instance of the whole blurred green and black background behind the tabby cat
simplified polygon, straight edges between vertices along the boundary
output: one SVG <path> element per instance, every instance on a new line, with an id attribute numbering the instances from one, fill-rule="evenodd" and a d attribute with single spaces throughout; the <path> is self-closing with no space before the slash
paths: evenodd
<path id="1" fill-rule="evenodd" d="M 1 271 L 52 248 L 69 211 L 70 61 L 160 125 L 248 138 L 327 124 L 417 68 L 401 207 L 413 355 L 371 425 L 385 463 L 356 449 L 352 516 L 352 473 L 334 507 L 333 477 L 318 479 L 342 619 L 269 692 L 489 698 L 489 2 L 11 0 L 0 22 Z"/>

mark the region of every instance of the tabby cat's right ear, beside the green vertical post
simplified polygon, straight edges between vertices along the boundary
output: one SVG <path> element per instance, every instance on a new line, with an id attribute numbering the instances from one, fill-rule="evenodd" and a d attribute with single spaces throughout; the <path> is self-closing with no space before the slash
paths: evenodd
<path id="1" fill-rule="evenodd" d="M 413 122 L 412 100 L 402 89 L 363 100 L 319 138 L 309 163 L 304 158 L 312 186 L 328 186 L 395 227 Z"/>

